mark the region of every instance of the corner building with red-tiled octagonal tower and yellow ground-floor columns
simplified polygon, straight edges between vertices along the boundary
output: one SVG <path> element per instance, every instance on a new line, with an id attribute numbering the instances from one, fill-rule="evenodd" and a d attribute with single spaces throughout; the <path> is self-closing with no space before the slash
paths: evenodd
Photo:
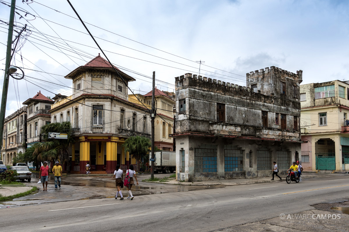
<path id="1" fill-rule="evenodd" d="M 57 95 L 51 105 L 51 121 L 70 121 L 76 143 L 72 146 L 72 172 L 112 173 L 116 164 L 126 170 L 135 164 L 121 147 L 132 135 L 150 138 L 147 108 L 128 101 L 128 84 L 134 78 L 113 67 L 100 55 L 65 76 L 73 81 L 73 95 Z"/>

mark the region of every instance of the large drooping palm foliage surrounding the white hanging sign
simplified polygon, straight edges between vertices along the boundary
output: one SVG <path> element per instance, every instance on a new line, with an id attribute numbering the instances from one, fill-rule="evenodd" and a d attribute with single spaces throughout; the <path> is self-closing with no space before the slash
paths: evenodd
<path id="1" fill-rule="evenodd" d="M 75 142 L 70 132 L 72 125 L 70 122 L 54 122 L 41 127 L 41 133 L 45 142 L 41 143 L 42 152 L 40 154 L 43 160 L 57 160 L 61 162 L 69 160 L 69 147 Z M 67 139 L 49 138 L 49 132 L 67 133 Z"/>

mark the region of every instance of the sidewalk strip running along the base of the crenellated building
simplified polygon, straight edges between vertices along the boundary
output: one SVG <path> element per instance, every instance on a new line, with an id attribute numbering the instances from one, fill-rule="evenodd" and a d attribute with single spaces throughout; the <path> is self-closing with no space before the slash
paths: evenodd
<path id="1" fill-rule="evenodd" d="M 307 173 L 302 174 L 302 179 L 307 178 L 314 178 L 319 177 L 320 175 L 317 173 Z M 322 175 L 321 175 L 322 176 Z M 251 178 L 251 179 L 222 179 L 222 180 L 212 180 L 212 181 L 196 181 L 196 182 L 179 182 L 176 181 L 175 178 L 167 179 L 166 182 L 159 182 L 159 181 L 144 181 L 144 182 L 150 182 L 150 183 L 161 183 L 161 184 L 174 184 L 174 185 L 191 185 L 191 186 L 214 186 L 214 185 L 220 185 L 223 184 L 225 186 L 234 186 L 234 185 L 244 185 L 244 184 L 257 184 L 257 183 L 268 183 L 268 182 L 280 182 L 279 178 L 275 178 L 275 181 L 270 180 L 270 176 L 267 177 L 258 177 L 258 178 Z M 286 180 L 286 175 L 281 176 L 282 181 Z"/>

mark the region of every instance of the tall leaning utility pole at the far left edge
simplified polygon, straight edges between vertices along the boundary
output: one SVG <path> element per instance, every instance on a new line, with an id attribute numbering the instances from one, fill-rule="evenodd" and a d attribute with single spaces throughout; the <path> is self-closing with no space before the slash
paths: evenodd
<path id="1" fill-rule="evenodd" d="M 16 0 L 11 1 L 10 7 L 10 20 L 8 25 L 8 35 L 7 35 L 7 49 L 6 49 L 6 62 L 5 62 L 5 75 L 3 77 L 2 86 L 2 96 L 1 96 L 1 108 L 0 108 L 0 149 L 2 149 L 3 140 L 3 124 L 5 123 L 5 111 L 6 111 L 6 101 L 7 101 L 7 91 L 8 91 L 8 67 L 10 66 L 11 59 L 11 47 L 12 47 L 12 35 L 13 35 L 13 22 L 15 17 L 15 6 Z"/>

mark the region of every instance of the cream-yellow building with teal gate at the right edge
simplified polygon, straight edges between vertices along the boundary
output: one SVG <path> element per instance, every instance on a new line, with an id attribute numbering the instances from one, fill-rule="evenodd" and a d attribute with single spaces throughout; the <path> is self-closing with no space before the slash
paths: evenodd
<path id="1" fill-rule="evenodd" d="M 302 162 L 305 170 L 349 170 L 349 84 L 300 86 Z"/>

